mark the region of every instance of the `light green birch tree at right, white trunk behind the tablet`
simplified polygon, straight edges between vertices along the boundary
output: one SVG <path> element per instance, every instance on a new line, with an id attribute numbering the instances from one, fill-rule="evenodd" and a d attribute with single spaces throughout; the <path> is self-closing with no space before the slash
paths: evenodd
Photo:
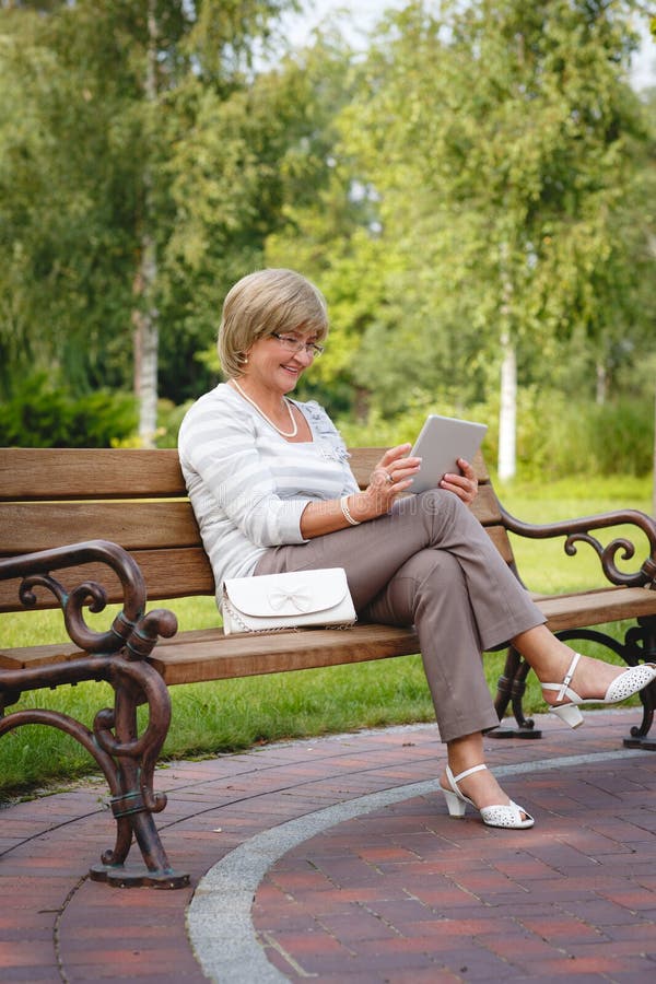
<path id="1" fill-rule="evenodd" d="M 503 364 L 504 477 L 516 373 L 553 380 L 578 337 L 606 363 L 644 348 L 644 236 L 621 234 L 647 200 L 645 117 L 626 83 L 639 7 L 410 3 L 378 25 L 335 124 L 335 157 L 377 221 L 328 266 L 382 260 L 355 379 L 384 412 L 429 393 L 467 406 Z"/>

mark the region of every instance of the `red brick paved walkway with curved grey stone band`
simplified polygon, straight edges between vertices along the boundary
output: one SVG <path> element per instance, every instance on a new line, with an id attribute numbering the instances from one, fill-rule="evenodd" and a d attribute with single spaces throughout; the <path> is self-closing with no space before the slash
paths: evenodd
<path id="1" fill-rule="evenodd" d="M 99 782 L 14 804 L 0 980 L 653 981 L 656 753 L 621 745 L 639 719 L 488 739 L 529 831 L 447 817 L 432 726 L 176 763 L 156 788 L 168 856 L 191 874 L 177 891 L 86 878 L 113 844 Z"/>

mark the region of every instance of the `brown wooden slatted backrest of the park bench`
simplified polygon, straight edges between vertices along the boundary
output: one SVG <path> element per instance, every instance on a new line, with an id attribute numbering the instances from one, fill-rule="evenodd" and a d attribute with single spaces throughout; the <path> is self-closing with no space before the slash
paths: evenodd
<path id="1" fill-rule="evenodd" d="M 361 488 L 382 454 L 380 448 L 351 448 Z M 481 487 L 473 512 L 505 561 L 513 563 L 480 454 L 475 467 Z M 0 448 L 0 557 L 112 540 L 139 563 L 150 600 L 213 595 L 212 572 L 175 449 Z M 106 569 L 86 565 L 57 576 L 67 588 L 98 579 L 110 601 L 120 600 L 118 581 L 110 583 Z M 56 607 L 47 593 L 38 594 L 38 607 Z M 0 581 L 0 611 L 22 608 L 17 581 Z"/>

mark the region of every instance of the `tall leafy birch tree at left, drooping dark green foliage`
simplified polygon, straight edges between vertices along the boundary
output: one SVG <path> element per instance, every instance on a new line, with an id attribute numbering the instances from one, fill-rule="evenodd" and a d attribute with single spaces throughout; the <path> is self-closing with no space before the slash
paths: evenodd
<path id="1" fill-rule="evenodd" d="M 61 366 L 71 385 L 93 387 L 107 373 L 125 379 L 133 329 L 144 443 L 162 312 L 180 317 L 166 269 L 181 239 L 177 168 L 195 157 L 208 106 L 248 91 L 254 48 L 292 5 L 78 0 L 0 11 L 9 83 L 0 191 L 10 202 L 0 237 L 13 259 L 0 283 L 3 352 L 14 370 L 37 358 Z M 204 152 L 202 141 L 196 150 Z M 265 232 L 262 223 L 260 241 Z"/>

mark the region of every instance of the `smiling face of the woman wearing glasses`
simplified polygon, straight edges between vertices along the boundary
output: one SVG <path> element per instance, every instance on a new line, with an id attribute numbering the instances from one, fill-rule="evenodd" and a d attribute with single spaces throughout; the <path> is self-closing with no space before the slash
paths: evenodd
<path id="1" fill-rule="evenodd" d="M 316 338 L 316 331 L 300 328 L 258 339 L 246 353 L 248 362 L 244 376 L 267 389 L 290 393 L 315 359 Z"/>

